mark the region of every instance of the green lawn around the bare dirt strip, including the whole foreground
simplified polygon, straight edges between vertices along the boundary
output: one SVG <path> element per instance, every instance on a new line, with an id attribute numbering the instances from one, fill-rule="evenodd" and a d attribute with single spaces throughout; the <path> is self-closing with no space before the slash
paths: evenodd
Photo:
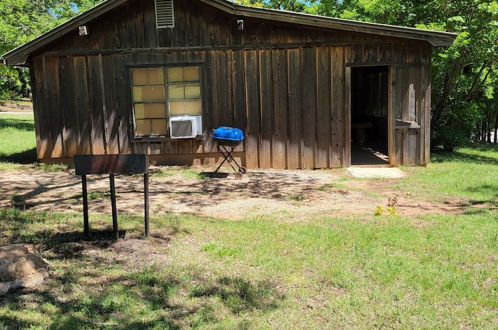
<path id="1" fill-rule="evenodd" d="M 34 162 L 22 156 L 32 119 L 0 115 L 0 125 L 4 166 Z M 85 239 L 81 214 L 0 208 L 0 246 L 35 244 L 53 271 L 39 290 L 0 298 L 0 328 L 496 328 L 498 150 L 404 170 L 399 189 L 469 207 L 294 222 L 162 213 L 148 239 L 140 215 L 120 214 L 118 243 L 108 215 L 91 214 Z"/>

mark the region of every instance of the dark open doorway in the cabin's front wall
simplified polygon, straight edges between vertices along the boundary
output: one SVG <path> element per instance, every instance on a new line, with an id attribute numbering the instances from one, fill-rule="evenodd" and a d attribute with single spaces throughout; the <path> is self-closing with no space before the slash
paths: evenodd
<path id="1" fill-rule="evenodd" d="M 351 165 L 387 165 L 388 67 L 351 70 Z"/>

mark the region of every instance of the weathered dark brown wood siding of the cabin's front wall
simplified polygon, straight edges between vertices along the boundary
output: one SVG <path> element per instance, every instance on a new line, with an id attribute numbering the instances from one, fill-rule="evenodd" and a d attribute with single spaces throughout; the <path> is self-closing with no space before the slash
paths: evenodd
<path id="1" fill-rule="evenodd" d="M 40 159 L 146 152 L 165 164 L 214 163 L 210 132 L 227 125 L 245 130 L 237 156 L 248 168 L 349 165 L 356 65 L 413 65 L 396 71 L 391 106 L 403 107 L 404 79 L 421 79 L 417 116 L 427 125 L 429 44 L 258 19 L 238 31 L 233 16 L 196 0 L 175 1 L 177 26 L 156 29 L 153 3 L 117 8 L 88 24 L 89 36 L 75 31 L 30 59 Z M 204 136 L 135 139 L 130 68 L 188 63 L 202 69 Z M 427 161 L 427 133 L 418 134 L 396 138 L 396 148 L 416 149 L 398 163 Z"/>

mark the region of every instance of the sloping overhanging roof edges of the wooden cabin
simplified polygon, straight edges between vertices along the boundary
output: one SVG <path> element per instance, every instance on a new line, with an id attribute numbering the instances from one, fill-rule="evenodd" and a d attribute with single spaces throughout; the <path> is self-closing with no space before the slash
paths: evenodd
<path id="1" fill-rule="evenodd" d="M 129 0 L 107 0 L 90 10 L 72 18 L 71 20 L 57 26 L 45 34 L 21 45 L 4 55 L 3 62 L 7 65 L 25 65 L 30 54 L 36 52 L 43 46 L 61 38 L 67 33 L 74 31 L 93 19 L 109 12 L 110 10 L 128 2 Z M 238 5 L 227 0 L 199 0 L 214 6 L 234 17 L 253 17 L 271 21 L 286 22 L 307 25 L 312 27 L 329 28 L 350 32 L 369 33 L 405 39 L 422 40 L 429 42 L 434 47 L 449 46 L 456 38 L 456 33 L 423 30 L 410 27 L 359 22 L 334 17 L 311 15 L 305 13 L 276 10 L 268 8 L 254 8 Z"/>

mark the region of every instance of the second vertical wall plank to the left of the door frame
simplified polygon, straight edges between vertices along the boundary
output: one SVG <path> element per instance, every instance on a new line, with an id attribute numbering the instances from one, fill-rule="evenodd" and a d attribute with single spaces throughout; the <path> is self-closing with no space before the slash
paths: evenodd
<path id="1" fill-rule="evenodd" d="M 315 167 L 330 167 L 329 147 L 331 144 L 331 71 L 329 48 L 320 47 L 316 52 L 316 144 L 315 144 Z"/>

